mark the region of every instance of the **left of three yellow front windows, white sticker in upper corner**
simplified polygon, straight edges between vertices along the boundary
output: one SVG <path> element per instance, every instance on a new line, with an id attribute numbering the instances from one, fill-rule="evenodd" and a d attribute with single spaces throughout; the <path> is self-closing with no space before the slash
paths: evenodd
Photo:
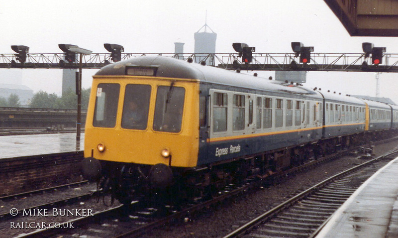
<path id="1" fill-rule="evenodd" d="M 111 128 L 116 125 L 119 91 L 119 84 L 98 85 L 93 126 Z"/>

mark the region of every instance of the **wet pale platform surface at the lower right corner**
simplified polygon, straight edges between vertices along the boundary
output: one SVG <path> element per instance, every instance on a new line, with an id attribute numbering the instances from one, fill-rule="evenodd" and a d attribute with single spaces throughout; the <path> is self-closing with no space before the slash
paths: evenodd
<path id="1" fill-rule="evenodd" d="M 362 184 L 316 236 L 336 237 L 398 237 L 398 157 Z"/>

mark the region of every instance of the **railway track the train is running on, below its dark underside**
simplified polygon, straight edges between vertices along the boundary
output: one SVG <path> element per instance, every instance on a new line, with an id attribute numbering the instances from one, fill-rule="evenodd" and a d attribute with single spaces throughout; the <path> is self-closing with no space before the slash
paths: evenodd
<path id="1" fill-rule="evenodd" d="M 267 178 L 267 181 L 278 181 L 279 178 L 286 177 L 286 174 L 293 174 L 300 170 L 314 167 L 319 163 L 339 157 L 346 152 L 346 150 L 339 151 L 336 154 L 325 156 L 318 160 L 313 160 L 291 170 L 274 174 Z M 82 217 L 68 221 L 67 223 L 74 224 L 74 229 L 40 230 L 21 237 L 57 237 L 57 234 L 62 234 L 63 238 L 80 236 L 92 236 L 98 238 L 139 237 L 140 235 L 151 231 L 154 228 L 160 227 L 175 220 L 187 219 L 195 212 L 200 212 L 205 208 L 236 196 L 237 194 L 251 190 L 255 187 L 260 187 L 263 184 L 264 179 L 252 179 L 243 185 L 229 184 L 210 200 L 201 201 L 198 204 L 185 204 L 179 208 L 173 206 L 157 208 L 146 207 L 140 206 L 140 202 L 137 202 L 132 205 L 130 210 L 127 210 L 127 208 L 124 206 L 115 207 L 103 212 L 94 213 L 93 216 Z"/>

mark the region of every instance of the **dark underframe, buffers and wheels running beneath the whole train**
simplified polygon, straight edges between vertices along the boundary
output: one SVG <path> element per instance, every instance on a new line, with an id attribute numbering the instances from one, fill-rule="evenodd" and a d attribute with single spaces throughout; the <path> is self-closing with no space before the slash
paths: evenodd
<path id="1" fill-rule="evenodd" d="M 198 200 L 216 196 L 228 184 L 241 184 L 247 179 L 264 179 L 273 173 L 301 165 L 310 158 L 317 159 L 350 146 L 359 146 L 364 141 L 381 140 L 394 135 L 397 135 L 397 130 L 338 136 L 200 168 L 101 161 L 99 188 L 123 204 L 142 198 L 156 203 Z"/>

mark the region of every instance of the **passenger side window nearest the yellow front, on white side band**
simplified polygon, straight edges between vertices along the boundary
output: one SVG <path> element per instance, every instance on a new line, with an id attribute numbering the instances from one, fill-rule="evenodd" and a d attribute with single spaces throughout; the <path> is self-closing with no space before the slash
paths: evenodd
<path id="1" fill-rule="evenodd" d="M 213 132 L 227 130 L 227 106 L 228 95 L 225 93 L 214 93 Z"/>

